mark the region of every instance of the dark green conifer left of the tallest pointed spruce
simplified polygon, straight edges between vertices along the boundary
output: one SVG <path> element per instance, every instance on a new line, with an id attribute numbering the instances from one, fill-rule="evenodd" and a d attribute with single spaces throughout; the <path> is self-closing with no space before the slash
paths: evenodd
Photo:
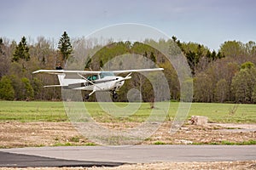
<path id="1" fill-rule="evenodd" d="M 19 59 L 24 59 L 26 61 L 29 61 L 30 59 L 29 48 L 26 45 L 26 37 L 22 37 L 20 43 L 15 48 L 13 61 L 19 61 Z"/>

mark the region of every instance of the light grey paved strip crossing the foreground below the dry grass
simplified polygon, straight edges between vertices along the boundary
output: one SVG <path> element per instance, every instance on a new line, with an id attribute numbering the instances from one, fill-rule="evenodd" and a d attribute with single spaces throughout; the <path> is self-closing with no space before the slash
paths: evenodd
<path id="1" fill-rule="evenodd" d="M 1 149 L 0 153 L 0 167 L 7 164 L 5 154 L 9 153 L 12 154 L 9 155 L 9 167 L 12 167 L 11 165 L 19 167 L 19 162 L 26 160 L 30 161 L 30 165 L 27 167 L 47 167 L 47 162 L 51 167 L 53 162 L 57 162 L 56 167 L 68 166 L 68 162 L 71 166 L 78 164 L 83 167 L 91 167 L 93 165 L 100 166 L 101 163 L 105 166 L 119 166 L 123 163 L 156 161 L 256 160 L 255 145 L 61 146 Z M 12 156 L 20 156 L 20 160 L 13 159 Z M 35 160 L 36 165 L 32 165 L 32 160 Z M 40 165 L 40 162 L 44 163 Z M 63 166 L 61 166 L 61 162 Z"/>

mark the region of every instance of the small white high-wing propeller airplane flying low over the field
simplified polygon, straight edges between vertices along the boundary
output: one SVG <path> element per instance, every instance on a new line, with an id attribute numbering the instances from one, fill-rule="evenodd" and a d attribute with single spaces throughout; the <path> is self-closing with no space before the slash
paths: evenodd
<path id="1" fill-rule="evenodd" d="M 89 99 L 91 94 L 96 91 L 109 91 L 113 95 L 113 99 L 118 98 L 116 93 L 121 88 L 125 80 L 131 79 L 132 72 L 144 71 L 163 71 L 163 68 L 154 69 L 137 69 L 123 71 L 65 71 L 65 70 L 38 70 L 32 73 L 48 73 L 58 76 L 60 85 L 49 85 L 48 87 L 61 87 L 64 89 L 86 90 L 91 91 L 86 94 L 84 99 Z M 115 76 L 115 74 L 128 73 L 125 77 Z"/>

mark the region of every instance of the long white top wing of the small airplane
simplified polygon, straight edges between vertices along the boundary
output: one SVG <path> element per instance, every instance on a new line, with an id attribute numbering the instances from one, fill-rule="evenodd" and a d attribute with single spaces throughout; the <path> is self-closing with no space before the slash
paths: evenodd
<path id="1" fill-rule="evenodd" d="M 143 72 L 143 71 L 163 71 L 163 68 L 154 68 L 154 69 L 133 69 L 133 70 L 123 70 L 123 71 L 64 71 L 64 70 L 38 70 L 33 71 L 32 73 L 48 73 L 48 74 L 62 74 L 62 73 L 79 73 L 84 74 L 100 74 L 101 72 L 113 72 L 115 74 L 127 73 L 127 72 Z"/>

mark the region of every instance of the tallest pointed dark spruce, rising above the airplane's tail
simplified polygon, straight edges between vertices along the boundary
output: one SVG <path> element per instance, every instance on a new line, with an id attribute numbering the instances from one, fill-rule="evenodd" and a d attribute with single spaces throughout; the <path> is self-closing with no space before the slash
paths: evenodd
<path id="1" fill-rule="evenodd" d="M 60 41 L 58 42 L 58 49 L 61 52 L 61 61 L 63 62 L 63 64 L 66 64 L 67 59 L 73 52 L 73 47 L 66 31 L 64 31 Z"/>

